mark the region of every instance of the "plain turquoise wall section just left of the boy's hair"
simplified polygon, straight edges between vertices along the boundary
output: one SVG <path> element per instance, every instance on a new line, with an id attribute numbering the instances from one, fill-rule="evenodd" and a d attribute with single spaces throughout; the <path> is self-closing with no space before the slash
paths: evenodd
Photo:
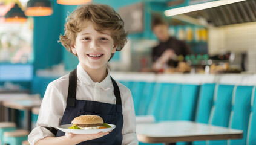
<path id="1" fill-rule="evenodd" d="M 61 32 L 59 16 L 62 11 L 56 1 L 51 1 L 54 11 L 51 16 L 34 17 L 34 71 L 50 68 L 62 61 L 62 48 L 57 43 Z"/>

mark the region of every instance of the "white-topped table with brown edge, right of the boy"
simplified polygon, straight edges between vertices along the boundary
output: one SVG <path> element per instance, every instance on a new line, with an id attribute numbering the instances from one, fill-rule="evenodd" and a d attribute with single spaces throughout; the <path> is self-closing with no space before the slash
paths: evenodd
<path id="1" fill-rule="evenodd" d="M 143 143 L 229 140 L 243 138 L 243 130 L 212 126 L 192 121 L 163 121 L 137 124 L 137 138 Z"/>

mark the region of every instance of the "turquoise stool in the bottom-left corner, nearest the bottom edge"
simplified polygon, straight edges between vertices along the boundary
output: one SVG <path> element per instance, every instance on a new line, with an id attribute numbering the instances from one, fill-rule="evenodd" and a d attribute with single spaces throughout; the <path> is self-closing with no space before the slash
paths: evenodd
<path id="1" fill-rule="evenodd" d="M 27 130 L 16 130 L 11 132 L 4 132 L 3 144 L 19 145 L 22 141 L 28 140 L 29 132 Z"/>

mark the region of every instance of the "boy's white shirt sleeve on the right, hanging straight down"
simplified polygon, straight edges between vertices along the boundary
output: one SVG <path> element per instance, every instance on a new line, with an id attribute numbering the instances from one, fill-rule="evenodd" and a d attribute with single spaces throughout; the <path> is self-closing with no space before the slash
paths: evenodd
<path id="1" fill-rule="evenodd" d="M 119 84 L 120 93 L 122 96 L 123 109 L 123 141 L 122 144 L 137 145 L 136 120 L 131 91 L 125 86 Z"/>

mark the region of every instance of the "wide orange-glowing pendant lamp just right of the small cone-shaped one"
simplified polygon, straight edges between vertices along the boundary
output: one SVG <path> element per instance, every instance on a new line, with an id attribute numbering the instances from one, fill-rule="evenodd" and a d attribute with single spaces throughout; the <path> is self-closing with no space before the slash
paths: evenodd
<path id="1" fill-rule="evenodd" d="M 53 14 L 51 2 L 48 0 L 30 0 L 27 2 L 25 15 L 27 16 L 50 16 Z"/>

